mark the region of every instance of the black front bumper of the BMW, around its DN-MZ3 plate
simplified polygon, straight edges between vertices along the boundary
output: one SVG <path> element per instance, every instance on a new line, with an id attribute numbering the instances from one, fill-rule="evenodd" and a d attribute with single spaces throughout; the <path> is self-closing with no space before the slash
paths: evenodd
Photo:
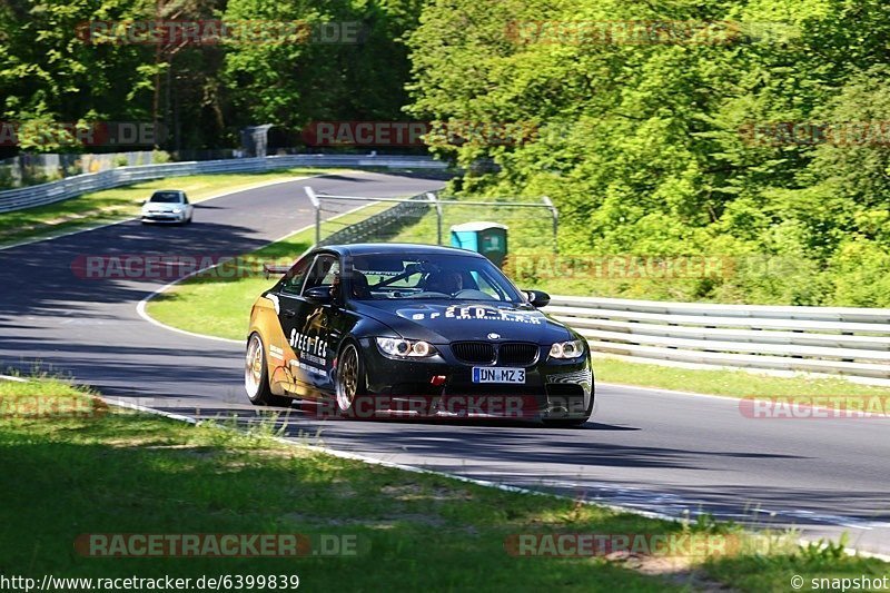
<path id="1" fill-rule="evenodd" d="M 424 359 L 388 358 L 370 340 L 363 346 L 367 397 L 382 416 L 580 419 L 593 408 L 589 354 L 548 359 L 541 346 L 537 362 L 522 366 L 525 382 L 503 384 L 474 383 L 474 366 L 494 365 L 463 363 L 447 345 L 436 345 L 437 356 Z"/>

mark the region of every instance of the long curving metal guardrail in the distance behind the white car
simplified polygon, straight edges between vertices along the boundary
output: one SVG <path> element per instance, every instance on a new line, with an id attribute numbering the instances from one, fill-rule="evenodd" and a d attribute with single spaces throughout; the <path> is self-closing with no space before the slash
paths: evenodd
<path id="1" fill-rule="evenodd" d="M 120 167 L 108 171 L 68 177 L 39 186 L 0 191 L 0 213 L 75 198 L 89 191 L 111 189 L 138 181 L 221 172 L 258 172 L 290 167 L 383 167 L 389 169 L 445 169 L 446 164 L 423 156 L 287 155 L 245 159 L 167 162 Z"/>

